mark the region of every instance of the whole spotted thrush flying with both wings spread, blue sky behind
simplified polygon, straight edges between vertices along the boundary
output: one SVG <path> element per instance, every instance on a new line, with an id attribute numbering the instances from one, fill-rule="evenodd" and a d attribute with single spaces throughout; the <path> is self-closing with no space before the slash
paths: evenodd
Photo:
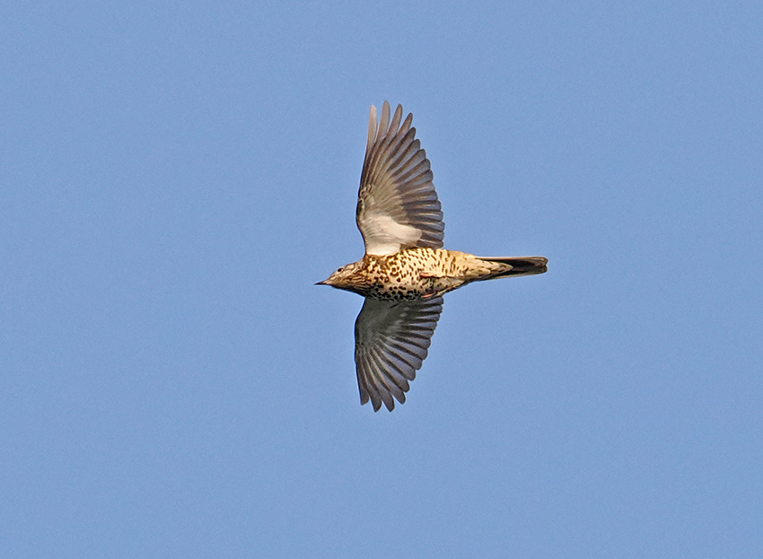
<path id="1" fill-rule="evenodd" d="M 355 372 L 361 405 L 391 412 L 406 401 L 443 311 L 443 295 L 499 277 L 547 271 L 544 257 L 477 257 L 443 249 L 443 212 L 431 164 L 398 105 L 379 122 L 371 106 L 355 221 L 365 255 L 317 285 L 364 296 L 355 320 Z"/>

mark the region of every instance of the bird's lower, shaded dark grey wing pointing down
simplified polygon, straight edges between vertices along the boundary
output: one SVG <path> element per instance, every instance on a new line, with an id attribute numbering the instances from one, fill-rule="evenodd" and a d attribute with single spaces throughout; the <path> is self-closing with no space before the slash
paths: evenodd
<path id="1" fill-rule="evenodd" d="M 392 411 L 406 401 L 409 380 L 416 378 L 443 311 L 443 298 L 416 301 L 366 299 L 355 320 L 355 370 L 360 403 L 371 398 Z"/>

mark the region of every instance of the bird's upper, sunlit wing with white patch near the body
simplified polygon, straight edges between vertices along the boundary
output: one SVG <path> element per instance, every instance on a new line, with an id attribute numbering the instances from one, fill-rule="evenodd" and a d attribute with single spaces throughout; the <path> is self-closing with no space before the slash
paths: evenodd
<path id="1" fill-rule="evenodd" d="M 371 107 L 355 213 L 367 254 L 443 248 L 445 224 L 429 160 L 411 127 L 413 115 L 401 125 L 402 116 L 398 105 L 390 122 L 390 103 L 384 101 L 380 124 Z"/>

